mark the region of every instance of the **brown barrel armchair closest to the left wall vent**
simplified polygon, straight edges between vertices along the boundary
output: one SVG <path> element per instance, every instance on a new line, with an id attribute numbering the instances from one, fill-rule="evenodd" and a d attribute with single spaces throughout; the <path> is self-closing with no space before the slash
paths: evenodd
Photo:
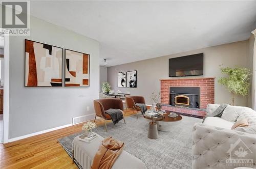
<path id="1" fill-rule="evenodd" d="M 114 109 L 120 109 L 123 112 L 123 102 L 121 99 L 114 99 L 114 98 L 97 99 L 97 100 L 94 100 L 93 103 L 94 103 L 94 110 L 95 110 L 94 122 L 97 116 L 104 119 L 105 129 L 106 129 L 106 120 L 111 120 L 110 115 L 105 114 L 105 110 L 114 108 Z M 123 116 L 123 121 L 125 124 L 124 116 Z M 106 131 L 108 130 L 106 129 Z"/>

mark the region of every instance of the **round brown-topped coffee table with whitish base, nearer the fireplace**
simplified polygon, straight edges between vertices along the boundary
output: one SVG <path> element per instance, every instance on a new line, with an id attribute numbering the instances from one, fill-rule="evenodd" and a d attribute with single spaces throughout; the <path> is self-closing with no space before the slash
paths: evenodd
<path id="1" fill-rule="evenodd" d="M 163 119 L 156 121 L 157 129 L 160 131 L 170 131 L 174 125 L 177 125 L 181 122 L 182 116 L 178 115 L 176 118 L 168 117 L 170 114 L 169 111 L 166 111 L 163 114 Z"/>

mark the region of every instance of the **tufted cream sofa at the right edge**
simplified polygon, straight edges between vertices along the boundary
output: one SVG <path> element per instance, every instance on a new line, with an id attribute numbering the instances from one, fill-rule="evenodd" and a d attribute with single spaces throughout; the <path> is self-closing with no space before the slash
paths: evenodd
<path id="1" fill-rule="evenodd" d="M 207 105 L 207 115 L 218 108 L 218 104 Z M 246 119 L 250 126 L 256 126 L 256 111 L 248 107 L 234 106 L 238 119 Z M 256 168 L 256 134 L 231 130 L 234 122 L 218 117 L 207 117 L 204 123 L 193 127 L 193 169 Z M 234 151 L 242 147 L 246 153 L 238 158 Z M 233 159 L 251 159 L 234 161 Z M 231 161 L 232 160 L 232 161 Z M 231 162 L 230 162 L 231 161 Z"/>

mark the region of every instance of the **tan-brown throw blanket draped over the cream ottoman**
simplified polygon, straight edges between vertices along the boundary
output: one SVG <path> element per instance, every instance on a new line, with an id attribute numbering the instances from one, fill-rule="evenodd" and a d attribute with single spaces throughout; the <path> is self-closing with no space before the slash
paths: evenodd
<path id="1" fill-rule="evenodd" d="M 94 156 L 91 169 L 110 169 L 123 150 L 123 142 L 108 137 L 102 140 L 99 150 Z"/>

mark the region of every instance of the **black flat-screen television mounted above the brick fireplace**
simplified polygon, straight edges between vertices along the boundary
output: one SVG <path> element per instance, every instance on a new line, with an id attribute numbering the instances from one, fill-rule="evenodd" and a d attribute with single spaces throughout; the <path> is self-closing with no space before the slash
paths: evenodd
<path id="1" fill-rule="evenodd" d="M 169 77 L 204 74 L 204 53 L 169 59 Z"/>

